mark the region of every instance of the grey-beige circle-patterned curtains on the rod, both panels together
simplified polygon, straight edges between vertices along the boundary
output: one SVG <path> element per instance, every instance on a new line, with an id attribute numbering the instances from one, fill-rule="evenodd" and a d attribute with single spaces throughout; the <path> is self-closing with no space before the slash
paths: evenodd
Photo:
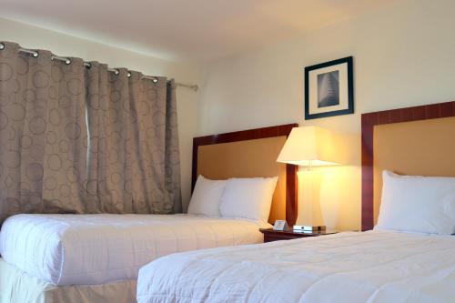
<path id="1" fill-rule="evenodd" d="M 16 213 L 181 210 L 172 82 L 4 45 L 0 223 Z"/>

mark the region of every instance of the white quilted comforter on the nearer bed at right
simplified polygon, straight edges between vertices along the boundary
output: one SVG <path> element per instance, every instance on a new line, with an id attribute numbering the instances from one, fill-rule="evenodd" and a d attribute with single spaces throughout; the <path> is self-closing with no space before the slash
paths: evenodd
<path id="1" fill-rule="evenodd" d="M 139 271 L 146 302 L 454 302 L 455 237 L 373 231 L 175 254 Z"/>

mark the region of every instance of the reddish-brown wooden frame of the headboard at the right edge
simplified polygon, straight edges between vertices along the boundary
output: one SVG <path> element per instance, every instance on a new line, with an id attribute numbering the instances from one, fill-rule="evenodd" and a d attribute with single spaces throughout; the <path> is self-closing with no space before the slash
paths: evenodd
<path id="1" fill-rule="evenodd" d="M 362 114 L 362 230 L 374 226 L 374 126 L 455 116 L 455 101 Z"/>

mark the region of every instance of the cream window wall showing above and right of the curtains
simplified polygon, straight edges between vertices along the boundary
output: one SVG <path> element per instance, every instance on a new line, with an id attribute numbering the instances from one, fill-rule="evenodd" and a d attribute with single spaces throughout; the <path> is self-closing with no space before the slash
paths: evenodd
<path id="1" fill-rule="evenodd" d="M 145 56 L 2 18 L 0 18 L 0 40 L 16 42 L 23 47 L 48 49 L 59 56 L 78 56 L 86 60 L 106 63 L 112 67 L 127 67 L 145 75 L 174 77 L 178 82 L 191 84 L 202 83 L 202 68 L 197 65 Z M 190 196 L 192 138 L 197 133 L 198 99 L 199 92 L 183 87 L 177 88 L 184 209 Z"/>

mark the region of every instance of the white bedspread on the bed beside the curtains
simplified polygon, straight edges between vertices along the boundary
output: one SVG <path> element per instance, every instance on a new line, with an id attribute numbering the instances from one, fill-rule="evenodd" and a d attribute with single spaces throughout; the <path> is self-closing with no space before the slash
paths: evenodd
<path id="1" fill-rule="evenodd" d="M 57 286 L 136 279 L 171 253 L 260 243 L 258 224 L 188 215 L 17 215 L 0 232 L 5 262 Z"/>

